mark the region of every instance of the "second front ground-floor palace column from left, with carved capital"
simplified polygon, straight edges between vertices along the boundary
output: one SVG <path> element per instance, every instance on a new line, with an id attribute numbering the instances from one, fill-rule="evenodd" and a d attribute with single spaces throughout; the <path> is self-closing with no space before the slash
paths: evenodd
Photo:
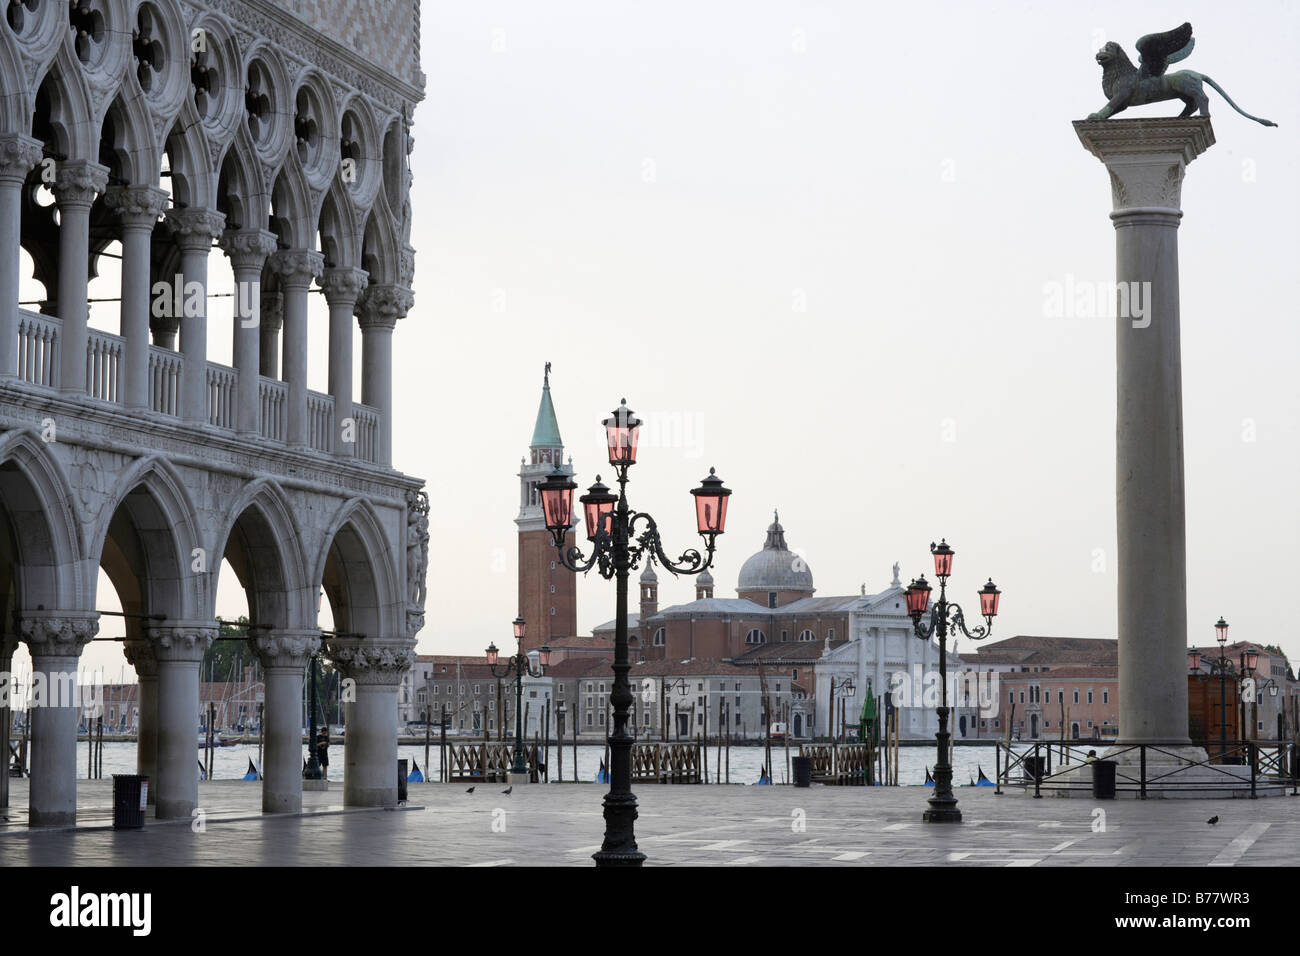
<path id="1" fill-rule="evenodd" d="M 159 665 L 159 819 L 188 819 L 199 805 L 199 665 L 216 636 L 217 626 L 207 622 L 148 628 Z"/>

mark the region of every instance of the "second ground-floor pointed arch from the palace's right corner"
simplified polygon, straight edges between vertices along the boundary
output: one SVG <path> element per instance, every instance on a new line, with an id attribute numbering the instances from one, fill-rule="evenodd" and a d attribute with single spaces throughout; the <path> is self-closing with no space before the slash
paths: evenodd
<path id="1" fill-rule="evenodd" d="M 248 619 L 280 630 L 315 627 L 316 588 L 308 584 L 302 532 L 283 489 L 270 479 L 259 479 L 244 488 L 228 514 L 230 523 L 221 529 L 213 551 L 218 555 L 213 572 L 220 574 L 221 557 L 230 562 L 248 596 Z"/>

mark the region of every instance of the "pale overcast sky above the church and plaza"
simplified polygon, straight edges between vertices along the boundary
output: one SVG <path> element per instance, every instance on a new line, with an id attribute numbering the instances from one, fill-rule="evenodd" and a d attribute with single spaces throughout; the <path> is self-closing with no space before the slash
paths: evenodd
<path id="1" fill-rule="evenodd" d="M 1300 658 L 1270 623 L 1300 537 L 1297 5 L 422 10 L 394 432 L 433 502 L 421 653 L 508 639 L 545 362 L 581 486 L 608 479 L 619 399 L 647 420 L 630 498 L 671 553 L 708 467 L 734 489 L 720 597 L 779 507 L 819 594 L 931 570 L 946 536 L 958 600 L 1004 591 L 994 636 L 1114 637 L 1114 324 L 1049 315 L 1046 287 L 1114 280 L 1109 182 L 1070 125 L 1105 101 L 1093 55 L 1190 20 L 1178 66 L 1280 126 L 1210 92 L 1183 187 L 1188 635 L 1225 615 Z M 660 605 L 693 597 L 659 578 Z M 580 630 L 612 613 L 584 579 Z"/>

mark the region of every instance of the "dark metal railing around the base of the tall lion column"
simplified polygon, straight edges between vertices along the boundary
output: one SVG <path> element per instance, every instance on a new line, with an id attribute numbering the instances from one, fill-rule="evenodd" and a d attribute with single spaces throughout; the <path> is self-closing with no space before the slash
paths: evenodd
<path id="1" fill-rule="evenodd" d="M 1098 741 L 1035 741 L 1031 747 L 1017 752 L 1001 740 L 997 741 L 994 758 L 994 780 L 1001 793 L 1002 787 L 1030 790 L 1034 796 L 1043 792 L 1092 792 L 1091 780 L 1065 779 L 1066 774 L 1089 763 L 1087 756 L 1095 750 Z M 1114 761 L 1117 793 L 1136 793 L 1145 800 L 1148 791 L 1167 792 L 1210 792 L 1227 788 L 1245 790 L 1249 784 L 1249 797 L 1258 796 L 1260 787 L 1291 787 L 1291 796 L 1300 795 L 1300 744 L 1292 740 L 1239 740 L 1226 750 L 1218 741 L 1195 740 L 1191 747 L 1205 748 L 1210 754 L 1205 760 L 1187 760 L 1188 744 L 1180 741 L 1154 744 L 1114 744 L 1100 760 Z M 1180 752 L 1182 750 L 1182 752 Z M 1117 758 L 1136 754 L 1136 767 L 1132 757 L 1126 761 Z M 1056 770 L 1052 761 L 1056 758 Z M 1174 763 L 1170 767 L 1170 763 Z M 1187 771 L 1204 767 L 1210 771 L 1196 774 L 1202 779 L 1190 779 Z M 1227 767 L 1247 767 L 1247 771 Z M 1179 779 L 1179 774 L 1183 774 Z"/>

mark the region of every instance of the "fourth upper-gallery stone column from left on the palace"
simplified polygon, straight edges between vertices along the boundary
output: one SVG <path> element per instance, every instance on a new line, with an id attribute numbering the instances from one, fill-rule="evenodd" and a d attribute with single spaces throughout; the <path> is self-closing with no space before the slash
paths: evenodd
<path id="1" fill-rule="evenodd" d="M 207 424 L 208 407 L 208 255 L 226 217 L 212 209 L 186 207 L 168 212 L 181 248 L 181 418 Z M 174 280 L 173 280 L 174 281 Z M 173 298 L 173 302 L 176 299 Z M 161 803 L 159 804 L 161 809 Z"/>

